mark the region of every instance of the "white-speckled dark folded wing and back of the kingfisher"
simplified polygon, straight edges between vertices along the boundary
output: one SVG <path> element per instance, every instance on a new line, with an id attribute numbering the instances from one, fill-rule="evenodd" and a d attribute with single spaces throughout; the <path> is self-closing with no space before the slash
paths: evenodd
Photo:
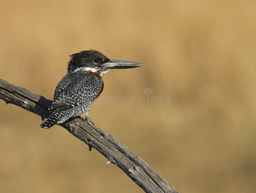
<path id="1" fill-rule="evenodd" d="M 61 79 L 54 93 L 51 111 L 65 111 L 94 101 L 101 93 L 103 81 L 92 74 L 66 75 Z"/>

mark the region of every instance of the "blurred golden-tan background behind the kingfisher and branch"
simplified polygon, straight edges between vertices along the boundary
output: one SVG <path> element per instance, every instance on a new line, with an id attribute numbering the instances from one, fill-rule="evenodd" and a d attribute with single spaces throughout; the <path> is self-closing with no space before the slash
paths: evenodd
<path id="1" fill-rule="evenodd" d="M 72 53 L 144 63 L 103 75 L 92 121 L 178 192 L 256 191 L 256 1 L 3 0 L 0 20 L 0 78 L 52 99 Z M 0 192 L 143 192 L 65 129 L 0 109 Z"/>

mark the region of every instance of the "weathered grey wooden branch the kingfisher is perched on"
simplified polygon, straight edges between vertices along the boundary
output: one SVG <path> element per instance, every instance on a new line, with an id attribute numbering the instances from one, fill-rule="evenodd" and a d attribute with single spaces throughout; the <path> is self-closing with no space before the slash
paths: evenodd
<path id="1" fill-rule="evenodd" d="M 27 111 L 36 113 L 42 118 L 49 115 L 48 107 L 52 100 L 36 95 L 25 88 L 21 88 L 0 79 L 0 98 L 6 104 L 11 103 Z M 81 116 L 61 124 L 69 131 L 107 158 L 107 163 L 114 163 L 129 176 L 145 192 L 176 192 L 175 188 L 145 163 L 140 156 L 119 143 L 113 136 L 98 127 L 86 122 Z"/>

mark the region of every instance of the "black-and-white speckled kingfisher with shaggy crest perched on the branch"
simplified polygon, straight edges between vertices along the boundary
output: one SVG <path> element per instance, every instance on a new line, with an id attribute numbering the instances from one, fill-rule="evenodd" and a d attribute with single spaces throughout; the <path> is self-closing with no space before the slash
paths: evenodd
<path id="1" fill-rule="evenodd" d="M 80 51 L 70 55 L 67 75 L 56 86 L 52 105 L 48 108 L 50 115 L 40 127 L 48 129 L 81 114 L 85 114 L 85 120 L 91 121 L 89 109 L 103 91 L 101 75 L 112 69 L 140 66 L 144 64 L 111 60 L 96 50 Z"/>

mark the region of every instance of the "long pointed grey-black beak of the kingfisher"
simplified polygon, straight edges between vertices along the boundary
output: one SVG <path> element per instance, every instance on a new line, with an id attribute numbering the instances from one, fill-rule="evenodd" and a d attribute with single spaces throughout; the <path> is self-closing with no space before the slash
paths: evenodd
<path id="1" fill-rule="evenodd" d="M 130 61 L 124 61 L 124 60 L 109 60 L 109 62 L 106 62 L 101 66 L 108 69 L 124 69 L 124 68 L 136 68 L 136 67 L 145 66 L 145 65 L 137 62 L 130 62 Z"/>

